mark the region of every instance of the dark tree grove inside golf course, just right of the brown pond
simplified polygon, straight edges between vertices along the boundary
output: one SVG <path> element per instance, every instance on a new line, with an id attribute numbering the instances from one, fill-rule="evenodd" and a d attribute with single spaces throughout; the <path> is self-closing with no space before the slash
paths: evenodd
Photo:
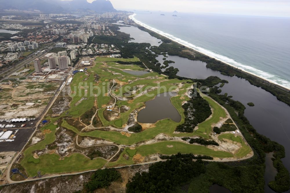
<path id="1" fill-rule="evenodd" d="M 184 103 L 182 108 L 184 108 L 185 120 L 182 125 L 178 125 L 176 128 L 176 131 L 180 132 L 193 132 L 198 123 L 206 120 L 211 115 L 209 103 L 198 92 L 197 96 Z"/>

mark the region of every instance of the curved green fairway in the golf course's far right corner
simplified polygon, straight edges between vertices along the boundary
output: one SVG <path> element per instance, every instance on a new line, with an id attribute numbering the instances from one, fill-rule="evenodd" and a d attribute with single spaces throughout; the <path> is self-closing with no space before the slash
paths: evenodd
<path id="1" fill-rule="evenodd" d="M 251 152 L 250 146 L 246 145 L 245 141 L 240 136 L 235 137 L 235 135 L 233 133 L 221 134 L 218 136 L 218 139 L 219 140 L 229 139 L 229 140 L 233 140 L 233 141 L 241 143 L 242 147 L 239 149 L 239 151 L 237 153 L 235 153 L 235 156 L 237 156 L 237 157 L 244 157 Z"/>

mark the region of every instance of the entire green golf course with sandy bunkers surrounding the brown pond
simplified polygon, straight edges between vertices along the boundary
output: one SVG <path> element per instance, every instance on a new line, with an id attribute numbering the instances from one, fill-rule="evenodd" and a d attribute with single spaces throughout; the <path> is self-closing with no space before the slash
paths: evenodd
<path id="1" fill-rule="evenodd" d="M 253 156 L 226 109 L 201 92 L 194 95 L 192 80 L 169 79 L 145 65 L 118 61 L 139 59 L 96 57 L 86 70 L 73 75 L 63 88 L 65 94 L 48 110 L 48 123 L 38 128 L 13 168 L 34 177 L 153 163 L 161 161 L 161 155 L 179 152 L 213 161 Z M 147 113 L 162 117 L 158 114 L 171 105 L 175 121 L 166 112 L 162 120 L 139 123 L 145 103 L 162 93 L 174 94 L 170 102 Z M 206 106 L 205 112 L 196 101 Z"/>

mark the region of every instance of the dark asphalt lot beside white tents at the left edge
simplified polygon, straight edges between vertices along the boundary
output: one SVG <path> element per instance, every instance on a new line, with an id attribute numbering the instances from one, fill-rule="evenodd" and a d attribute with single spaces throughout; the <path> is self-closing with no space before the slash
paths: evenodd
<path id="1" fill-rule="evenodd" d="M 7 131 L 13 131 L 13 134 L 16 129 L 7 128 Z M 0 130 L 0 132 L 3 129 Z M 10 152 L 10 151 L 20 151 L 23 146 L 26 144 L 28 138 L 31 136 L 34 129 L 19 129 L 16 133 L 14 141 L 11 142 L 0 142 L 0 152 Z"/>

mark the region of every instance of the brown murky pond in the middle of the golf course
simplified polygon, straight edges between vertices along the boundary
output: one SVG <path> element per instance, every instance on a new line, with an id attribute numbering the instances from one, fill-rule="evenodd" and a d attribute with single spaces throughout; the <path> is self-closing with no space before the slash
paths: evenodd
<path id="1" fill-rule="evenodd" d="M 179 122 L 181 116 L 170 101 L 170 98 L 174 96 L 176 96 L 176 92 L 164 92 L 158 94 L 153 100 L 147 101 L 145 103 L 146 108 L 138 113 L 137 121 L 140 123 L 155 123 L 170 118 Z"/>

